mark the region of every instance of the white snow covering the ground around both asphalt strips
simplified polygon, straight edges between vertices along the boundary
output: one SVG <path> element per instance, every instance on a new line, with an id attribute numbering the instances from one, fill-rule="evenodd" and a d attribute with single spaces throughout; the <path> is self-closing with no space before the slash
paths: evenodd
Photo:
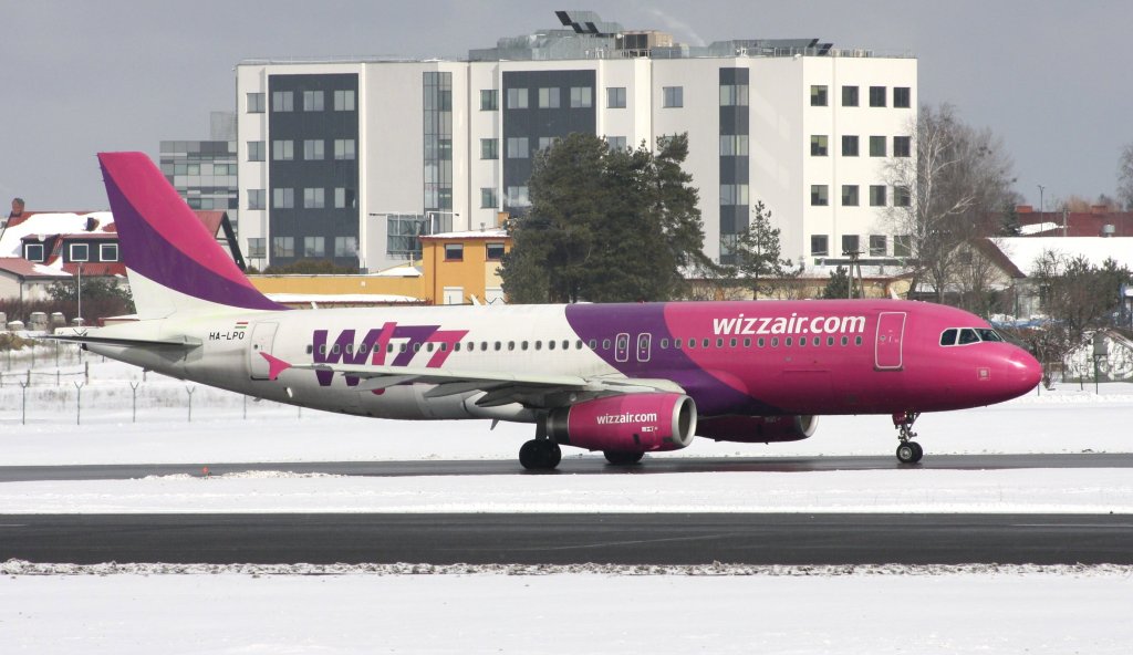
<path id="1" fill-rule="evenodd" d="M 522 425 L 488 432 L 487 423 L 245 407 L 241 397 L 195 386 L 190 423 L 181 382 L 143 382 L 137 369 L 97 361 L 77 406 L 74 382 L 85 377 L 61 368 L 60 385 L 44 386 L 51 365 L 33 376 L 26 397 L 18 371 L 0 378 L 0 466 L 513 460 L 530 435 Z M 137 423 L 130 381 L 138 384 Z M 1059 384 L 1002 406 L 923 416 L 919 441 L 927 457 L 1133 452 L 1133 389 L 1102 385 L 1101 392 Z M 698 440 L 658 457 L 888 454 L 894 437 L 886 417 L 830 417 L 799 443 Z M 569 456 L 568 470 L 570 457 L 595 456 Z M 259 473 L 0 484 L 0 513 L 189 508 L 1133 513 L 1133 475 L 1106 468 L 406 478 Z M 1127 653 L 1133 643 L 1128 567 L 273 570 L 8 562 L 0 575 L 0 638 L 5 652 L 17 653 L 1053 654 Z"/>

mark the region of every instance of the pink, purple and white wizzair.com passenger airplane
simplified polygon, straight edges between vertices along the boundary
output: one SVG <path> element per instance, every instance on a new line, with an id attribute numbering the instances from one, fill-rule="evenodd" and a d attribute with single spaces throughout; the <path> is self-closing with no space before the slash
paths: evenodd
<path id="1" fill-rule="evenodd" d="M 888 415 L 920 461 L 921 412 L 1022 395 L 1041 366 L 986 321 L 896 299 L 292 311 L 261 294 L 144 153 L 100 153 L 137 321 L 57 338 L 164 375 L 300 407 L 534 424 L 612 465 L 811 436 L 819 415 Z"/>

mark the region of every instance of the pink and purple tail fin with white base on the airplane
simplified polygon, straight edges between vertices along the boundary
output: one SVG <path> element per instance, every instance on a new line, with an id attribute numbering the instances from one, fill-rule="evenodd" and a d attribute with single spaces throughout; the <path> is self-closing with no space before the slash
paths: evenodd
<path id="1" fill-rule="evenodd" d="M 145 153 L 99 163 L 138 317 L 287 308 L 252 286 Z"/>

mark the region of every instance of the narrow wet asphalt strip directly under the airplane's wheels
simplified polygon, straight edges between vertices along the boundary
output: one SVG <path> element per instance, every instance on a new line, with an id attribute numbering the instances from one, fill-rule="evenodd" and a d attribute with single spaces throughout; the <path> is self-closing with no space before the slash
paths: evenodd
<path id="1" fill-rule="evenodd" d="M 2 454 L 0 454 L 2 458 Z M 152 475 L 195 475 L 204 467 L 211 475 L 252 470 L 321 473 L 346 476 L 440 475 L 655 475 L 674 473 L 803 473 L 821 470 L 886 470 L 901 468 L 990 470 L 1020 468 L 1133 468 L 1133 453 L 1073 454 L 926 454 L 917 465 L 902 465 L 896 457 L 756 457 L 756 458 L 646 458 L 640 465 L 612 466 L 600 457 L 566 458 L 552 471 L 527 471 L 517 460 L 468 461 L 323 461 L 245 463 L 129 463 L 83 466 L 0 466 L 0 482 L 133 479 Z"/>

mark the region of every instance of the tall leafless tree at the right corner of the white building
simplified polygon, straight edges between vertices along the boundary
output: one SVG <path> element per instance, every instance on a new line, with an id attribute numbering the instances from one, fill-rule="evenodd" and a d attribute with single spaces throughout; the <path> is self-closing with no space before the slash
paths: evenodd
<path id="1" fill-rule="evenodd" d="M 909 130 L 917 156 L 888 161 L 894 206 L 886 213 L 894 233 L 908 243 L 910 294 L 928 281 L 943 303 L 956 283 L 960 245 L 999 229 L 991 216 L 1014 198 L 1013 164 L 1002 139 L 964 125 L 947 103 L 922 105 Z"/>

